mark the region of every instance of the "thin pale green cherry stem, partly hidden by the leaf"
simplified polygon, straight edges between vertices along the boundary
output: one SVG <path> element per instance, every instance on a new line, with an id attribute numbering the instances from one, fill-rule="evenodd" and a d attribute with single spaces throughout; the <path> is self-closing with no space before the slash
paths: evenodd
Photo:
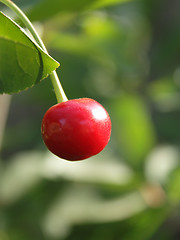
<path id="1" fill-rule="evenodd" d="M 13 3 L 11 0 L 0 0 L 0 2 L 4 3 L 7 7 L 9 7 L 13 12 L 15 12 L 17 14 L 17 16 L 21 19 L 23 24 L 27 27 L 27 29 L 32 34 L 34 40 L 39 45 L 39 47 L 42 48 L 42 50 L 46 54 L 48 54 L 48 51 L 47 51 L 42 39 L 40 38 L 39 34 L 35 30 L 31 21 L 24 14 L 24 12 L 15 3 Z M 50 74 L 50 78 L 51 78 L 51 82 L 52 82 L 52 85 L 53 85 L 53 88 L 54 88 L 54 91 L 55 91 L 57 102 L 60 103 L 60 102 L 67 101 L 68 99 L 66 97 L 66 94 L 65 94 L 65 92 L 62 88 L 62 85 L 60 83 L 60 80 L 59 80 L 58 75 L 57 75 L 55 70 Z"/>

